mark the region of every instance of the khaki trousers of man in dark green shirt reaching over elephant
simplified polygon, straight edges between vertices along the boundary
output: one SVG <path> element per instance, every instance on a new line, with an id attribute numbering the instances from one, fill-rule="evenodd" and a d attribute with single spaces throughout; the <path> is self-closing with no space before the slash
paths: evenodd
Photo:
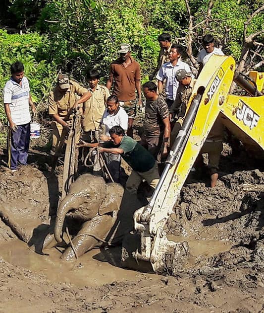
<path id="1" fill-rule="evenodd" d="M 158 185 L 159 175 L 158 175 L 158 165 L 155 162 L 155 165 L 146 172 L 137 172 L 135 170 L 132 171 L 130 176 L 126 181 L 126 190 L 130 193 L 137 193 L 138 186 L 145 179 L 147 183 L 152 187 L 156 188 Z"/>

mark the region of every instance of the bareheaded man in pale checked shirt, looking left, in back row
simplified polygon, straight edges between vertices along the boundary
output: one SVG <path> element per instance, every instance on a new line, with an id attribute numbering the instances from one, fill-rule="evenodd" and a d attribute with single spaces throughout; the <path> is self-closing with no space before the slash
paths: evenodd
<path id="1" fill-rule="evenodd" d="M 175 77 L 175 73 L 180 69 L 185 69 L 187 72 L 191 72 L 189 65 L 180 60 L 183 53 L 181 46 L 173 44 L 169 52 L 170 62 L 164 63 L 158 71 L 158 92 L 162 94 L 163 81 L 165 80 L 165 94 L 168 107 L 172 105 L 176 98 L 179 82 Z"/>

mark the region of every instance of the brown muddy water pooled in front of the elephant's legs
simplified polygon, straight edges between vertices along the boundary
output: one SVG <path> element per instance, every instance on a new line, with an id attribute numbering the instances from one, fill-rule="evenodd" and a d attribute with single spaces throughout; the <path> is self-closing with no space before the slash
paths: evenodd
<path id="1" fill-rule="evenodd" d="M 61 252 L 56 248 L 47 250 L 49 255 L 40 255 L 19 239 L 1 244 L 0 251 L 1 257 L 12 265 L 43 274 L 54 283 L 68 282 L 80 287 L 102 286 L 113 281 L 132 281 L 142 276 L 139 272 L 110 264 L 116 262 L 119 253 L 115 248 L 105 255 L 100 249 L 94 249 L 72 263 L 62 262 L 59 259 Z"/>

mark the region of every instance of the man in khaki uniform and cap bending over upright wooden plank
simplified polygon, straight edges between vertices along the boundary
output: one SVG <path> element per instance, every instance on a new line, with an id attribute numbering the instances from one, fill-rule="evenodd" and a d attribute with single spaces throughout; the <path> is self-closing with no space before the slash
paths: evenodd
<path id="1" fill-rule="evenodd" d="M 76 99 L 76 95 L 80 96 Z M 49 114 L 52 122 L 52 153 L 58 156 L 64 144 L 65 135 L 70 130 L 72 109 L 78 109 L 79 104 L 87 101 L 91 92 L 77 82 L 69 80 L 65 74 L 58 75 L 57 84 L 49 95 Z"/>

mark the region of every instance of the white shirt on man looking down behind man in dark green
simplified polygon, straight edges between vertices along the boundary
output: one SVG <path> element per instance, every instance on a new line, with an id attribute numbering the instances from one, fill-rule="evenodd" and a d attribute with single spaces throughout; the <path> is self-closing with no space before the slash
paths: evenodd
<path id="1" fill-rule="evenodd" d="M 109 114 L 106 109 L 101 123 L 106 125 L 106 135 L 110 136 L 109 129 L 111 129 L 113 126 L 120 126 L 124 131 L 127 130 L 128 115 L 126 114 L 126 111 L 120 106 L 118 112 L 115 114 Z"/>

